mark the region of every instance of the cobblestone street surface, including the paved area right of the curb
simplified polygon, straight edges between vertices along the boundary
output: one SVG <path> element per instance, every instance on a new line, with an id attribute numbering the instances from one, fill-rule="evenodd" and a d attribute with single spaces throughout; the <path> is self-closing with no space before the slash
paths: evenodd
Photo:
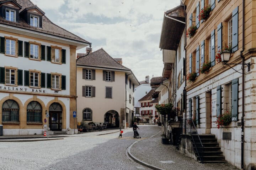
<path id="1" fill-rule="evenodd" d="M 63 140 L 37 142 L 0 142 L 1 170 L 132 170 L 150 169 L 127 157 L 126 149 L 135 141 L 132 154 L 146 163 L 162 169 L 231 170 L 228 164 L 199 164 L 171 145 L 162 145 L 159 126 L 139 125 L 141 139 L 133 138 L 132 129 L 96 136 L 93 133 L 64 137 Z M 151 138 L 149 138 L 151 137 Z M 160 163 L 172 160 L 174 163 Z"/>

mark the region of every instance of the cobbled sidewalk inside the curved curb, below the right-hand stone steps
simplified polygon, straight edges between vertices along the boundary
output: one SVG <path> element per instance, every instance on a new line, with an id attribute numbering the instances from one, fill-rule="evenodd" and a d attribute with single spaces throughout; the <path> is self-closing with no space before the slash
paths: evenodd
<path id="1" fill-rule="evenodd" d="M 238 170 L 228 163 L 201 164 L 177 151 L 175 146 L 162 144 L 160 134 L 134 143 L 130 153 L 137 158 L 135 161 L 157 170 Z"/>

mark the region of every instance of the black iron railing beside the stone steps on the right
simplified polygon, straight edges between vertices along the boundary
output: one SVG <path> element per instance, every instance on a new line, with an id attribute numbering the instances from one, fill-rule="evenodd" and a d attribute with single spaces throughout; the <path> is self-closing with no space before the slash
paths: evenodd
<path id="1" fill-rule="evenodd" d="M 204 146 L 198 135 L 196 125 L 192 118 L 183 119 L 183 128 L 185 128 L 185 134 L 190 135 L 193 140 L 194 152 L 197 153 L 201 163 L 203 163 Z"/>

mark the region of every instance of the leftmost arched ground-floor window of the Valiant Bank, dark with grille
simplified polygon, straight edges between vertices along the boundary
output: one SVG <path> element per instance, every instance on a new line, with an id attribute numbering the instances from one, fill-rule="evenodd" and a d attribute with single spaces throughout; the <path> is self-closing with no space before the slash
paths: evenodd
<path id="1" fill-rule="evenodd" d="M 19 122 L 19 107 L 14 100 L 6 100 L 2 105 L 2 121 Z"/>

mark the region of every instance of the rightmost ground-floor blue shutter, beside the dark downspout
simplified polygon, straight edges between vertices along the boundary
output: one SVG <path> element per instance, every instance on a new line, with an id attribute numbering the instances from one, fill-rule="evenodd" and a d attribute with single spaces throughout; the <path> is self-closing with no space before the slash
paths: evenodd
<path id="1" fill-rule="evenodd" d="M 238 79 L 232 80 L 232 121 L 238 121 Z"/>

